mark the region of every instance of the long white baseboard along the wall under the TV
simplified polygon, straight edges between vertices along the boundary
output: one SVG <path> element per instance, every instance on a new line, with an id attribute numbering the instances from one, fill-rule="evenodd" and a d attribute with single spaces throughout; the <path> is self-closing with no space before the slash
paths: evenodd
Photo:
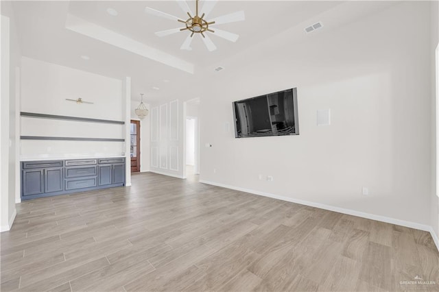
<path id="1" fill-rule="evenodd" d="M 411 221 L 405 221 L 405 220 L 395 219 L 392 217 L 385 217 L 385 216 L 381 216 L 381 215 L 375 215 L 375 214 L 370 214 L 370 213 L 366 213 L 366 212 L 360 212 L 360 211 L 335 207 L 335 206 L 331 206 L 331 205 L 320 204 L 320 203 L 316 203 L 316 202 L 309 202 L 309 201 L 305 201 L 302 199 L 294 199 L 292 197 L 273 195 L 270 193 L 254 191 L 254 190 L 251 190 L 248 188 L 239 188 L 236 186 L 229 186 L 228 184 L 219 184 L 217 182 L 210 182 L 207 180 L 200 180 L 200 182 L 202 182 L 203 184 L 211 184 L 213 186 L 221 186 L 222 188 L 230 188 L 230 189 L 233 189 L 236 191 L 251 193 L 253 195 L 272 197 L 273 199 L 281 199 L 282 201 L 287 201 L 287 202 L 292 202 L 292 203 L 296 203 L 296 204 L 300 204 L 300 205 L 311 206 L 311 207 L 320 208 L 320 209 L 324 209 L 324 210 L 339 212 L 339 213 L 343 213 L 346 215 L 353 215 L 353 216 L 362 217 L 362 218 L 366 218 L 366 219 L 372 219 L 372 220 L 381 221 L 381 222 L 385 222 L 385 223 L 392 223 L 395 225 L 405 226 L 408 228 L 414 228 L 414 229 L 423 230 L 423 231 L 427 231 L 427 232 L 431 233 L 431 226 L 420 224 L 420 223 L 415 223 L 415 222 L 411 222 Z M 436 240 L 437 240 L 437 236 L 436 236 Z M 437 241 L 435 241 L 435 243 L 436 243 L 436 245 L 438 245 Z M 439 250 L 439 248 L 438 248 L 438 250 Z"/>

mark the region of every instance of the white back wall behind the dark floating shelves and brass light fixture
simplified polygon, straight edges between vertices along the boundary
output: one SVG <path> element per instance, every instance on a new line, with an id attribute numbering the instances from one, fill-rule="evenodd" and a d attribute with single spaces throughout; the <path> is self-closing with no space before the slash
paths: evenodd
<path id="1" fill-rule="evenodd" d="M 76 104 L 66 99 L 91 101 Z M 128 100 L 129 101 L 129 100 Z M 21 111 L 125 121 L 122 81 L 23 57 Z M 125 138 L 119 124 L 84 123 L 21 117 L 22 136 Z M 21 158 L 120 156 L 121 142 L 21 141 Z"/>

